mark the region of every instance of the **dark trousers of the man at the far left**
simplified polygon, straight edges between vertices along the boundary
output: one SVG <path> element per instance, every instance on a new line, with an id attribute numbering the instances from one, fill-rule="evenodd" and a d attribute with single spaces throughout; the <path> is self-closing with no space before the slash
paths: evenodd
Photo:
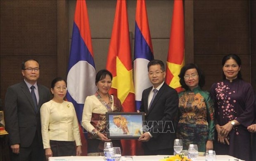
<path id="1" fill-rule="evenodd" d="M 19 147 L 19 154 L 14 154 L 12 149 L 9 150 L 12 161 L 45 161 L 45 151 L 43 143 L 38 141 L 38 135 L 33 139 L 29 147 Z"/>

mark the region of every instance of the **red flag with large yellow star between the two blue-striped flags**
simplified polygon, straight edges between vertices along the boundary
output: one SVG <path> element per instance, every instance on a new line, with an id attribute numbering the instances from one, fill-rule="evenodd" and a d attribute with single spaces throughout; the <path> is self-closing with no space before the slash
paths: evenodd
<path id="1" fill-rule="evenodd" d="M 117 0 L 106 69 L 113 75 L 110 94 L 116 95 L 125 112 L 135 112 L 133 68 L 126 0 Z M 136 154 L 137 140 L 121 140 L 122 155 Z"/>

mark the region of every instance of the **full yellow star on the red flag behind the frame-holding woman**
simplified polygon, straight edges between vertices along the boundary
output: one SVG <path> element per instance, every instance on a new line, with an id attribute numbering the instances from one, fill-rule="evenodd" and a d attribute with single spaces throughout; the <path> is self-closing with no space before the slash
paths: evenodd
<path id="1" fill-rule="evenodd" d="M 116 56 L 116 77 L 112 80 L 112 88 L 117 89 L 117 97 L 121 103 L 124 102 L 128 94 L 134 93 L 133 70 L 127 70 L 123 63 Z"/>

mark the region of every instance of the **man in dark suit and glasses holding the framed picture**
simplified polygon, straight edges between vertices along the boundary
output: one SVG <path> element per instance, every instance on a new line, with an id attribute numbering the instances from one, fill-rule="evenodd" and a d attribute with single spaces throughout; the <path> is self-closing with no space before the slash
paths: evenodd
<path id="1" fill-rule="evenodd" d="M 146 125 L 139 140 L 144 142 L 145 155 L 173 155 L 178 93 L 164 82 L 166 72 L 162 61 L 152 60 L 147 68 L 153 87 L 142 93 L 140 112 L 146 114 Z"/>

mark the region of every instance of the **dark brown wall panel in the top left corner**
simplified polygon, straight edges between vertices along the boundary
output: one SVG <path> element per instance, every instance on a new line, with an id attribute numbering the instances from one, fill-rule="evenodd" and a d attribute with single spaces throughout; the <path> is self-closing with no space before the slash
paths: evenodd
<path id="1" fill-rule="evenodd" d="M 1 0 L 1 56 L 55 55 L 56 1 Z"/>

